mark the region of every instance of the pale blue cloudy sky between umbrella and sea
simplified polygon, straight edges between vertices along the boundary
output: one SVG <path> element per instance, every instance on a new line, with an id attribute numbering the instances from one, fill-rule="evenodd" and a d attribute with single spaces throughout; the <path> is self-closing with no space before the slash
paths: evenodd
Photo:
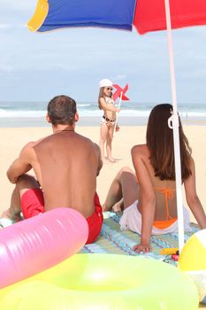
<path id="1" fill-rule="evenodd" d="M 139 35 L 101 28 L 32 33 L 37 0 L 0 0 L 0 102 L 68 95 L 94 102 L 108 78 L 141 103 L 172 102 L 165 31 Z M 206 105 L 206 27 L 172 31 L 177 100 Z"/>

